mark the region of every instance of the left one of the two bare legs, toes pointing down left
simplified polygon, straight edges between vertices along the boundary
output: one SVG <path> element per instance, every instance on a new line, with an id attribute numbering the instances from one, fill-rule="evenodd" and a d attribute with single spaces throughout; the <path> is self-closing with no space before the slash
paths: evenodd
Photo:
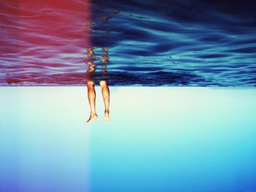
<path id="1" fill-rule="evenodd" d="M 87 90 L 88 90 L 88 100 L 91 108 L 91 115 L 89 120 L 86 121 L 86 123 L 91 122 L 92 120 L 95 120 L 97 118 L 96 110 L 95 110 L 95 99 L 96 99 L 96 93 L 94 89 L 94 82 L 89 81 L 87 82 Z"/>

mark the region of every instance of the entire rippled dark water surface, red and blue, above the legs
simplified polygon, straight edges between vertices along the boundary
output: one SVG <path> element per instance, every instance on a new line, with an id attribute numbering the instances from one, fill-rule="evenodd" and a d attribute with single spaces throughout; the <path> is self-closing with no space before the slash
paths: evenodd
<path id="1" fill-rule="evenodd" d="M 0 85 L 256 85 L 254 1 L 12 0 L 0 10 Z"/>

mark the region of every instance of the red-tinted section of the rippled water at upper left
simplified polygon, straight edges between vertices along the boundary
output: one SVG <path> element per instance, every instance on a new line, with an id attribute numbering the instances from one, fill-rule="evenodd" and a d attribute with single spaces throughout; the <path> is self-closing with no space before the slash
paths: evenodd
<path id="1" fill-rule="evenodd" d="M 59 83 L 63 74 L 75 79 L 79 70 L 86 71 L 82 57 L 90 38 L 83 27 L 90 21 L 89 0 L 12 0 L 1 3 L 0 10 L 0 74 L 9 84 Z"/>

